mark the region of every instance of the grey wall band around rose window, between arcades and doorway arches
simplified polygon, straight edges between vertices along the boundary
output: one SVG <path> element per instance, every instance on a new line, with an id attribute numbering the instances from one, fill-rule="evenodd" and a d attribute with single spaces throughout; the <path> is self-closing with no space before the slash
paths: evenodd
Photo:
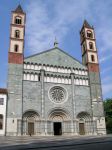
<path id="1" fill-rule="evenodd" d="M 49 98 L 49 90 L 53 86 L 61 86 L 67 91 L 67 100 L 63 103 L 54 103 Z M 23 82 L 23 112 L 34 110 L 41 116 L 41 82 L 24 81 Z M 88 86 L 75 86 L 76 115 L 80 112 L 88 112 L 91 114 L 90 89 Z M 54 109 L 65 109 L 73 118 L 73 103 L 72 103 L 72 86 L 65 84 L 44 83 L 44 110 L 45 119 L 48 119 L 49 113 Z"/>

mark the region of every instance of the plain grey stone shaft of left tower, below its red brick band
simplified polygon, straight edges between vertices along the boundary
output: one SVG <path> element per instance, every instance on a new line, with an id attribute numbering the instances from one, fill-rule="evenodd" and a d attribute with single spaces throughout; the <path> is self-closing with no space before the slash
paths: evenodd
<path id="1" fill-rule="evenodd" d="M 22 79 L 23 65 L 9 64 L 7 117 L 22 116 Z"/>

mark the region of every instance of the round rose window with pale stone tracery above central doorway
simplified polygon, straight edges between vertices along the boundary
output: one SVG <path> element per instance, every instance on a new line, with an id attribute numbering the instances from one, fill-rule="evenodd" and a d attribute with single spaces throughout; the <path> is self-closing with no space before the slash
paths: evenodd
<path id="1" fill-rule="evenodd" d="M 66 99 L 66 91 L 64 88 L 56 86 L 49 91 L 50 99 L 55 103 L 62 103 Z"/>

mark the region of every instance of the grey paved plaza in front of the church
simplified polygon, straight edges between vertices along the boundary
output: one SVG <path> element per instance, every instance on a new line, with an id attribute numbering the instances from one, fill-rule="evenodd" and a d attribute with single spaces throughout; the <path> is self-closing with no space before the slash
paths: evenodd
<path id="1" fill-rule="evenodd" d="M 18 137 L 0 137 L 0 150 L 18 150 L 18 149 L 58 149 L 58 147 L 65 146 L 80 146 L 90 144 L 111 144 L 112 148 L 112 135 L 108 136 L 54 136 L 54 137 L 36 137 L 36 136 L 18 136 Z M 27 148 L 28 147 L 28 148 Z M 52 148 L 51 148 L 52 147 Z M 110 150 L 110 147 L 106 150 Z"/>

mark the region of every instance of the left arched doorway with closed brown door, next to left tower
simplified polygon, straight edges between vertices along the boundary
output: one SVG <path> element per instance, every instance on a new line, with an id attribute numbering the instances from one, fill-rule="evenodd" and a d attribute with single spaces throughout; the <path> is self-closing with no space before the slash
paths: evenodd
<path id="1" fill-rule="evenodd" d="M 35 111 L 27 111 L 23 114 L 23 132 L 26 135 L 35 135 L 37 133 L 36 123 L 39 115 Z"/>

